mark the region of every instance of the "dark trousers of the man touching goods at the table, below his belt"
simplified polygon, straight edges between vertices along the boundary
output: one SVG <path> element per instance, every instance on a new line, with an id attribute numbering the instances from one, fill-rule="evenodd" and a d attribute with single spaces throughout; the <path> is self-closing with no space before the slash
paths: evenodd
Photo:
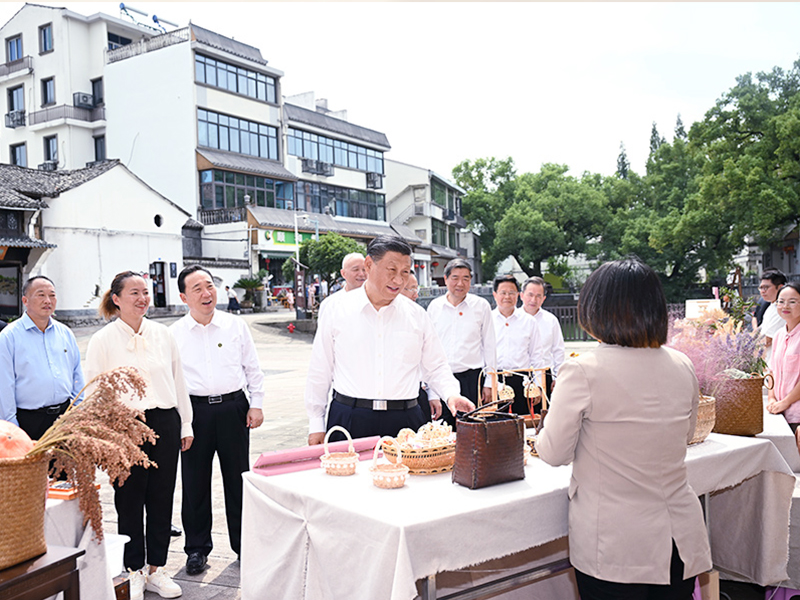
<path id="1" fill-rule="evenodd" d="M 419 404 L 405 410 L 372 410 L 347 406 L 334 400 L 328 410 L 328 429 L 339 425 L 347 429 L 353 438 L 372 435 L 395 437 L 404 427 L 417 431 L 424 423 L 425 416 Z M 328 439 L 336 442 L 346 438 L 341 432 L 335 431 Z"/>

